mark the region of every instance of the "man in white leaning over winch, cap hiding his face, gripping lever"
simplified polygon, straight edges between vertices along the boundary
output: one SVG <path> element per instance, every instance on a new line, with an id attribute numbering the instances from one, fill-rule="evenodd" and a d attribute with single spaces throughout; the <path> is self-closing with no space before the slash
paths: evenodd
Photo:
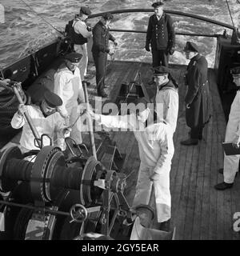
<path id="1" fill-rule="evenodd" d="M 30 115 L 39 136 L 48 134 L 54 142 L 54 146 L 60 146 L 62 148 L 62 139 L 67 130 L 64 124 L 64 118 L 58 113 L 59 106 L 62 106 L 62 99 L 49 90 L 46 90 L 44 98 L 39 106 L 25 106 L 24 104 L 19 104 L 18 111 L 14 114 L 14 117 L 11 120 L 11 126 L 14 129 L 19 129 L 23 126 L 20 138 L 20 149 L 22 150 L 22 153 L 26 153 L 30 150 L 39 150 L 34 144 L 34 134 L 30 129 L 30 125 L 26 122 L 24 117 L 25 112 Z M 56 135 L 58 139 L 54 140 Z M 47 145 L 49 144 L 46 144 L 45 146 Z"/>

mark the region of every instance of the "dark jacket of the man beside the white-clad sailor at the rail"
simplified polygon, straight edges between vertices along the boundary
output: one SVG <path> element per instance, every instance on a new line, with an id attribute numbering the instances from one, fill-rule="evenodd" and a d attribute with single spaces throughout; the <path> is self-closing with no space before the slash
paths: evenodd
<path id="1" fill-rule="evenodd" d="M 92 51 L 93 52 L 103 52 L 103 53 L 109 53 L 110 49 L 108 46 L 108 42 L 115 41 L 114 36 L 110 34 L 109 29 L 106 28 L 102 24 L 101 21 L 99 21 L 93 29 L 93 46 Z"/>

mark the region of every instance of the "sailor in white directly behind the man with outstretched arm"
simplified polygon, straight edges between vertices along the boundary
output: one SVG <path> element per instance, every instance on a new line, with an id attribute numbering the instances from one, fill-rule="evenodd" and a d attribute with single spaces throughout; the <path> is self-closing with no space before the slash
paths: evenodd
<path id="1" fill-rule="evenodd" d="M 154 82 L 157 87 L 154 102 L 159 108 L 156 112 L 158 118 L 162 118 L 170 124 L 174 133 L 178 121 L 178 84 L 166 66 L 157 66 L 153 70 Z"/>

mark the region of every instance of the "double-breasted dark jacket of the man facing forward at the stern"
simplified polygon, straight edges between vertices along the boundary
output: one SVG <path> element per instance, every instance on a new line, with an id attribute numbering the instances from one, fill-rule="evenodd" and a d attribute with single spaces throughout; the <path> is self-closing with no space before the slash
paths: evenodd
<path id="1" fill-rule="evenodd" d="M 153 50 L 171 50 L 175 46 L 175 32 L 170 15 L 163 13 L 158 21 L 154 14 L 150 16 L 146 31 L 146 45 Z"/>

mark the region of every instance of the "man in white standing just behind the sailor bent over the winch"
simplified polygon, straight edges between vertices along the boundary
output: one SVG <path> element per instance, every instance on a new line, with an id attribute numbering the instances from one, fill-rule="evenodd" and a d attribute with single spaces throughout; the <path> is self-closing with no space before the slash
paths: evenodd
<path id="1" fill-rule="evenodd" d="M 78 69 L 82 54 L 66 54 L 65 62 L 59 66 L 54 75 L 54 93 L 62 98 L 62 106 L 59 113 L 68 119 L 70 125 L 74 124 L 80 114 L 80 105 L 85 102 L 82 80 Z M 82 144 L 81 120 L 72 127 L 70 137 L 77 144 Z"/>

